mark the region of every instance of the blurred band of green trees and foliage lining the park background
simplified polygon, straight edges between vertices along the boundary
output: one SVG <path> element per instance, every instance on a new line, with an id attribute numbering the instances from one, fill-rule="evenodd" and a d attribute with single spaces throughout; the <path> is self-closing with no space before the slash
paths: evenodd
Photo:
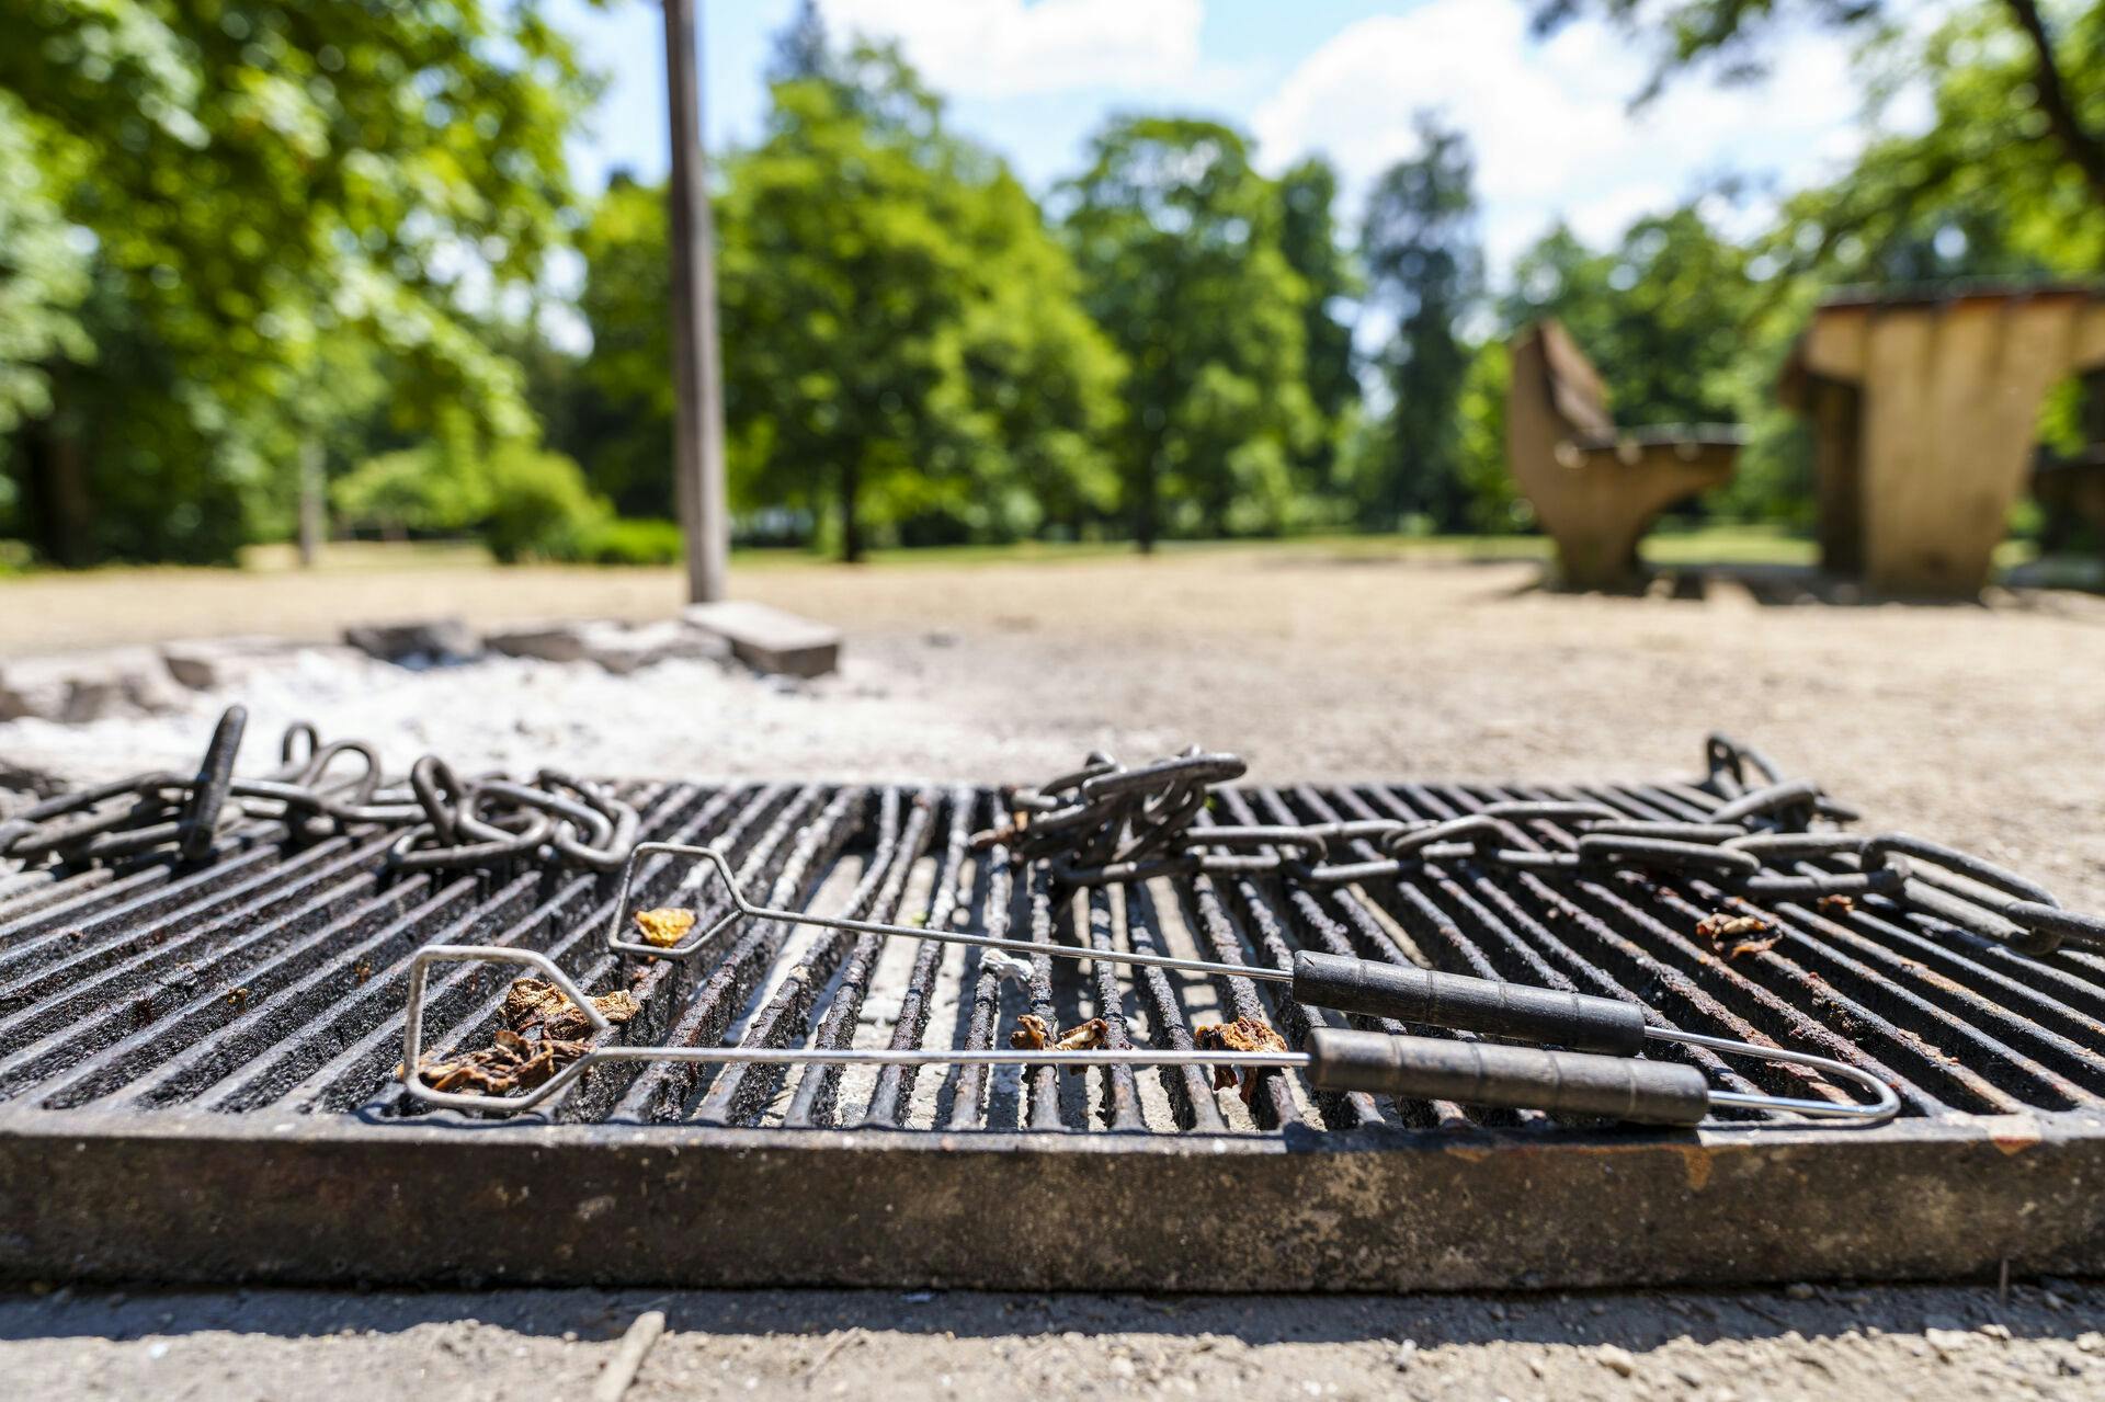
<path id="1" fill-rule="evenodd" d="M 1751 434 L 1707 509 L 1802 522 L 1777 370 L 1842 282 L 2105 269 L 2105 6 L 1979 0 L 1928 36 L 1880 0 L 1535 0 L 1598 15 L 1659 84 L 1762 72 L 1779 32 L 1861 40 L 1930 122 L 1749 229 L 1728 179 L 1589 246 L 1486 269 L 1469 147 L 1341 194 L 1229 124 L 1107 122 L 1040 206 L 897 53 L 810 0 L 722 154 L 730 501 L 745 539 L 1503 530 L 1520 324 L 1558 316 L 1629 425 Z M 669 552 L 665 196 L 581 202 L 592 95 L 539 0 L 13 0 L 0 25 L 0 535 L 46 560 L 227 560 L 295 520 L 480 533 L 507 558 Z M 1341 229 L 1339 208 L 1362 217 Z M 589 352 L 539 316 L 585 267 Z M 1497 286 L 1490 286 L 1497 282 Z M 2052 440 L 2105 394 L 2057 392 Z M 583 467 L 568 463 L 579 459 Z M 514 509 L 516 507 L 516 509 Z M 610 512 L 636 518 L 627 524 Z"/>

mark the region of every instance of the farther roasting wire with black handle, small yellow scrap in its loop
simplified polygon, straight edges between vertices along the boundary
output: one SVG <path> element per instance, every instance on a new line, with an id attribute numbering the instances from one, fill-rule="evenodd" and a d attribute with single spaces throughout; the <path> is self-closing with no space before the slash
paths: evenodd
<path id="1" fill-rule="evenodd" d="M 623 935 L 629 918 L 629 886 L 636 880 L 636 863 L 653 853 L 676 857 L 699 857 L 722 878 L 730 897 L 730 912 L 709 926 L 697 926 L 680 937 L 680 943 L 659 947 L 648 941 Z M 707 886 L 703 886 L 707 890 Z M 1008 954 L 1044 954 L 1063 960 L 1097 960 L 1105 964 L 1128 964 L 1139 968 L 1172 968 L 1177 973 L 1202 975 L 1208 979 L 1257 979 L 1259 983 L 1284 983 L 1292 996 L 1316 1008 L 1339 1013 L 1360 1013 L 1366 1017 L 1389 1017 L 1425 1027 L 1446 1027 L 1450 1032 L 1482 1032 L 1497 1038 L 1539 1042 L 1545 1046 L 1568 1046 L 1581 1053 L 1604 1053 L 1615 1057 L 1636 1057 L 1646 1042 L 1676 1042 L 1680 1046 L 1703 1046 L 1732 1057 L 1756 1061 L 1777 1061 L 1804 1065 L 1831 1076 L 1842 1076 L 1892 1095 L 1867 1071 L 1781 1046 L 1760 1046 L 1732 1038 L 1713 1038 L 1678 1027 L 1657 1027 L 1646 1021 L 1644 1008 L 1617 998 L 1596 998 L 1591 994 L 1570 994 L 1564 989 L 1532 987 L 1526 983 L 1501 983 L 1497 979 L 1476 979 L 1471 975 L 1440 973 L 1412 964 L 1385 964 L 1379 960 L 1356 960 L 1316 949 L 1295 952 L 1292 968 L 1269 964 L 1219 964 L 1210 960 L 1187 960 L 1168 954 L 1135 954 L 1128 949 L 1092 949 L 1086 945 L 1052 945 L 1036 939 L 1004 939 L 998 935 L 968 935 L 964 930 L 930 930 L 911 924 L 886 924 L 880 920 L 850 920 L 846 916 L 819 916 L 798 909 L 773 909 L 756 905 L 739 890 L 739 880 L 726 859 L 714 846 L 693 846 L 684 842 L 640 842 L 627 865 L 621 867 L 621 893 L 615 897 L 608 918 L 606 947 L 621 954 L 644 954 L 665 960 L 690 960 L 707 949 L 718 935 L 741 920 L 783 920 L 787 924 L 813 924 L 827 930 L 850 930 L 857 935 L 882 935 L 888 939 L 926 939 L 945 945 L 968 945 L 977 949 L 1002 949 Z M 1179 1065 L 1179 1063 L 1156 1063 Z M 1739 1095 L 1741 1101 L 1726 1097 Z M 1783 1109 L 1766 1097 L 1745 1097 L 1745 1093 L 1718 1090 L 1718 1103 L 1747 1103 L 1768 1109 Z M 1827 1101 L 1796 1101 L 1789 1105 L 1800 1114 L 1833 1114 Z"/>

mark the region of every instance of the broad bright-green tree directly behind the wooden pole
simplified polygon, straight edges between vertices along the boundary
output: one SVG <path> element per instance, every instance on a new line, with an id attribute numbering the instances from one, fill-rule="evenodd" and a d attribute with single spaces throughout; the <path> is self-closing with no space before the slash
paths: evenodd
<path id="1" fill-rule="evenodd" d="M 1122 366 L 1029 194 L 893 51 L 796 53 L 760 143 L 720 162 L 733 505 L 848 560 L 874 530 L 1013 539 L 1109 509 Z M 581 248 L 615 432 L 579 453 L 621 509 L 663 512 L 642 499 L 669 450 L 663 194 L 617 181 Z"/>

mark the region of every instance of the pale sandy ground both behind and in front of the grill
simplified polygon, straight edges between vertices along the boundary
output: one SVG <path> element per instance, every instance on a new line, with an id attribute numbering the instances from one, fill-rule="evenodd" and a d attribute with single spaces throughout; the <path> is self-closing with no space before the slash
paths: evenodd
<path id="1" fill-rule="evenodd" d="M 1705 570 L 1648 598 L 1566 598 L 1535 577 L 1530 564 L 1322 549 L 766 568 L 739 592 L 840 623 L 840 676 L 796 686 L 667 663 L 610 680 L 503 661 L 415 676 L 314 659 L 242 699 L 259 728 L 312 716 L 398 762 L 429 747 L 461 766 L 690 777 L 1006 781 L 1090 747 L 1141 760 L 1198 741 L 1244 754 L 1267 781 L 1648 779 L 1692 775 L 1703 735 L 1722 728 L 1819 777 L 1867 825 L 1958 842 L 2105 907 L 2105 600 L 1840 606 L 1793 577 Z M 185 573 L 11 583 L 0 604 L 8 657 L 162 636 L 326 638 L 356 617 L 663 617 L 678 581 L 432 570 L 259 587 Z M 179 764 L 221 701 L 80 728 L 0 724 L 0 762 L 74 777 Z M 2021 1284 L 2008 1303 L 1974 1286 L 17 1297 L 0 1303 L 0 1375 L 27 1396 L 583 1398 L 606 1339 L 657 1307 L 671 1326 L 629 1396 L 2105 1396 L 2101 1305 L 2105 1293 L 2071 1284 Z"/>

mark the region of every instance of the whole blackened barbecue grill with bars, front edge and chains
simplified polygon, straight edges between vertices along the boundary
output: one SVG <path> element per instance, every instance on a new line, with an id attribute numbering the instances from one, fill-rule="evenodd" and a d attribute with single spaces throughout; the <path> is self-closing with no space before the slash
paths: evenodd
<path id="1" fill-rule="evenodd" d="M 1410 1288 L 2105 1265 L 2105 926 L 1964 853 L 1857 834 L 1730 741 L 1669 783 L 1265 787 L 1194 754 L 1000 792 L 516 783 L 432 758 L 383 785 L 370 747 L 312 730 L 250 779 L 240 728 L 196 777 L 0 819 L 11 1278 Z M 640 937 L 638 912 L 682 907 L 690 928 Z M 1316 998 L 1305 968 L 1421 1002 Z M 621 1021 L 573 1019 L 592 1053 L 530 1105 L 427 1103 L 417 1067 L 490 1046 L 518 977 L 579 1006 L 623 994 Z M 1551 1004 L 1633 1036 L 1623 1065 L 1701 1080 L 1701 1128 L 1305 1065 L 1349 1034 L 1436 1038 L 1478 1069 L 1610 1061 L 1537 1050 L 1581 1044 L 1528 1023 Z M 1103 1044 L 1013 1050 L 1023 1015 L 1103 1019 Z M 1288 1053 L 1196 1040 L 1244 1019 Z M 1217 1090 L 1223 1067 L 1244 1095 Z M 1899 1116 L 1815 1118 L 1876 1095 Z"/>

